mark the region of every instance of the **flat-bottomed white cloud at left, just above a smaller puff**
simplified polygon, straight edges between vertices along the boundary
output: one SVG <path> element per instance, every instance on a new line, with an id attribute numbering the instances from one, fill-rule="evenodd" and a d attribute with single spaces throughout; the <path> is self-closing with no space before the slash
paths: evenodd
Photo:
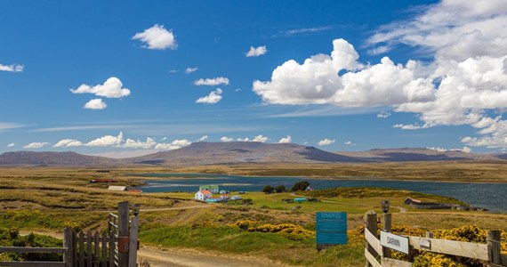
<path id="1" fill-rule="evenodd" d="M 122 88 L 123 84 L 117 77 L 110 77 L 103 85 L 80 85 L 77 89 L 70 89 L 72 93 L 93 93 L 107 98 L 122 98 L 130 95 L 130 90 Z"/>

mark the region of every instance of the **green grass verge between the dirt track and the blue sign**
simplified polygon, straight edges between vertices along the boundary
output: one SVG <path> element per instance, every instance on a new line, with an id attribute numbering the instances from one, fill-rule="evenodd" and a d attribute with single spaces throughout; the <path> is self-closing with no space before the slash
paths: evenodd
<path id="1" fill-rule="evenodd" d="M 364 264 L 364 243 L 362 239 L 358 239 L 357 234 L 351 233 L 350 237 L 349 245 L 318 253 L 313 231 L 246 231 L 236 225 L 198 223 L 175 227 L 154 224 L 140 232 L 143 242 L 162 247 L 187 247 L 235 255 L 254 255 L 294 265 L 361 266 Z"/>

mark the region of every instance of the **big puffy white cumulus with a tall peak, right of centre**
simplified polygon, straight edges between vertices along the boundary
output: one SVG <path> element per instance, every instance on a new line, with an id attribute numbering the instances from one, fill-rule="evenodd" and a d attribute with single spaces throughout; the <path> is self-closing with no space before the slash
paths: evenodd
<path id="1" fill-rule="evenodd" d="M 254 92 L 267 103 L 288 105 L 367 107 L 433 99 L 432 80 L 417 77 L 420 63 L 408 61 L 404 66 L 384 57 L 378 64 L 363 65 L 347 41 L 336 39 L 333 46 L 330 55 L 317 54 L 302 64 L 286 61 L 270 81 L 254 81 Z M 339 76 L 341 70 L 347 72 Z"/>

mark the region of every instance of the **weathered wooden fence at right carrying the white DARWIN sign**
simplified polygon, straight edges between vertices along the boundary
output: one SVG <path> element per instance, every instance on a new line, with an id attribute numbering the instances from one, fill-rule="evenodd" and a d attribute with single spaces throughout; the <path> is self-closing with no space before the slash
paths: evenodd
<path id="1" fill-rule="evenodd" d="M 384 230 L 390 231 L 390 214 L 384 214 Z M 390 258 L 390 248 L 383 247 L 377 236 L 377 214 L 369 211 L 365 216 L 366 266 L 411 267 L 412 263 Z M 507 255 L 500 253 L 500 231 L 487 232 L 487 244 L 469 243 L 445 239 L 433 239 L 431 232 L 425 238 L 407 236 L 410 250 L 423 250 L 438 254 L 477 259 L 486 266 L 507 266 Z M 380 262 L 378 261 L 380 259 Z"/>

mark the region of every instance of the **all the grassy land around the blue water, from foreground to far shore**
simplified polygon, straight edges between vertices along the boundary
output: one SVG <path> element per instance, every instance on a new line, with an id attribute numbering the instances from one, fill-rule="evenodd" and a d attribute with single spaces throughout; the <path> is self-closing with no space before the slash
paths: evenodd
<path id="1" fill-rule="evenodd" d="M 142 173 L 207 173 L 243 175 L 341 176 L 354 174 L 415 180 L 458 177 L 460 182 L 505 182 L 503 165 L 419 163 L 385 166 L 199 166 L 173 168 L 115 168 L 107 172 L 92 168 L 2 168 L 0 169 L 0 228 L 22 231 L 62 231 L 71 226 L 82 230 L 106 228 L 108 213 L 117 203 L 128 200 L 141 204 L 141 244 L 159 247 L 185 247 L 226 254 L 267 257 L 294 265 L 364 265 L 361 227 L 368 210 L 382 213 L 380 202 L 390 200 L 393 225 L 413 231 L 438 231 L 476 224 L 480 229 L 507 231 L 507 214 L 454 210 L 418 210 L 403 203 L 407 197 L 425 201 L 460 203 L 453 198 L 406 190 L 352 188 L 296 192 L 297 196 L 318 198 L 318 202 L 285 203 L 294 193 L 248 192 L 252 199 L 242 202 L 205 204 L 192 200 L 193 193 L 135 193 L 106 190 L 109 185 L 141 184 Z M 440 168 L 442 167 L 442 168 Z M 417 172 L 411 170 L 422 168 Z M 428 175 L 423 175 L 426 170 Z M 431 170 L 431 171 L 428 171 Z M 460 172 L 464 172 L 463 174 Z M 480 174 L 479 174 L 480 173 Z M 495 175 L 493 175 L 495 173 Z M 382 174 L 382 175 L 381 175 Z M 477 174 L 477 175 L 476 175 Z M 490 175 L 491 174 L 491 175 Z M 454 176 L 463 175 L 463 176 Z M 467 178 L 468 177 L 468 178 Z M 489 178 L 487 178 L 489 177 Z M 115 179 L 114 183 L 91 183 L 93 179 Z M 145 179 L 145 178 L 143 178 Z M 155 178 L 151 178 L 155 179 Z M 197 189 L 196 189 L 197 190 Z M 230 195 L 238 195 L 231 192 Z M 315 213 L 348 213 L 349 243 L 320 252 L 315 249 Z M 403 228 L 405 229 L 405 228 Z M 507 237 L 506 237 L 507 238 Z"/>

